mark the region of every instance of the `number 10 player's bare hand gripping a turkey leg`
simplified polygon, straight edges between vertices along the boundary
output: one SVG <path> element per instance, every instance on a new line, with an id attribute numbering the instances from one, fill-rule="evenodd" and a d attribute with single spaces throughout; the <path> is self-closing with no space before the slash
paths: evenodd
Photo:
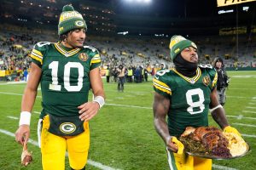
<path id="1" fill-rule="evenodd" d="M 19 144 L 26 144 L 30 136 L 30 128 L 28 125 L 20 125 L 15 132 L 15 140 Z"/>

